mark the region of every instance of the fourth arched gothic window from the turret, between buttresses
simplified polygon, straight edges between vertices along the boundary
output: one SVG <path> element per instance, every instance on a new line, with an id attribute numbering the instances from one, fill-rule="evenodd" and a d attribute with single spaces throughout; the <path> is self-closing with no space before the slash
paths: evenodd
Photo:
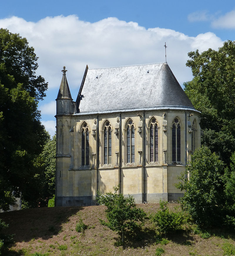
<path id="1" fill-rule="evenodd" d="M 156 118 L 150 124 L 150 162 L 158 162 L 158 128 Z"/>

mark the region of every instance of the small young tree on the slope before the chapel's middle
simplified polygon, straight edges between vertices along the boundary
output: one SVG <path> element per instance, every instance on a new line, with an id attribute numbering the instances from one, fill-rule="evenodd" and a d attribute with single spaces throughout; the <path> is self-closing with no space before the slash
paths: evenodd
<path id="1" fill-rule="evenodd" d="M 101 195 L 98 191 L 97 202 L 107 206 L 105 211 L 108 222 L 100 219 L 101 224 L 117 231 L 124 242 L 127 232 L 133 232 L 135 228 L 139 227 L 145 220 L 146 214 L 142 209 L 136 207 L 132 196 L 124 197 L 121 193 L 117 194 L 119 187 L 120 185 L 113 187 L 114 193 L 105 192 L 105 195 Z"/>

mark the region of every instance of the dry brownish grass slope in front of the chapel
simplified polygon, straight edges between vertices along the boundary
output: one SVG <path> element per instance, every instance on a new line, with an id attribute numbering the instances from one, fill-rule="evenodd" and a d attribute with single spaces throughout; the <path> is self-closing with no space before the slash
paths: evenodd
<path id="1" fill-rule="evenodd" d="M 159 204 L 138 205 L 147 213 L 155 213 Z M 175 204 L 170 204 L 173 208 Z M 88 226 L 85 234 L 75 231 L 79 219 Z M 9 252 L 5 255 L 155 255 L 156 248 L 164 249 L 162 255 L 224 255 L 227 244 L 235 248 L 234 236 L 211 236 L 203 239 L 185 226 L 183 231 L 168 235 L 168 244 L 156 244 L 155 228 L 146 221 L 134 239 L 119 243 L 116 232 L 99 223 L 105 218 L 105 206 L 54 207 L 27 209 L 0 213 L 0 219 L 9 224 L 8 233 L 15 234 Z M 221 231 L 220 231 L 221 232 Z M 67 250 L 59 250 L 67 245 Z M 227 245 L 228 247 L 228 245 Z M 230 254 L 226 254 L 230 255 Z"/>

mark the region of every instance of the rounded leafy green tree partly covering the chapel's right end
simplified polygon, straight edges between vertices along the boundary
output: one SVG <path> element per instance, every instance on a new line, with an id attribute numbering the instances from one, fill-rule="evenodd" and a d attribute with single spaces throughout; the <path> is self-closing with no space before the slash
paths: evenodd
<path id="1" fill-rule="evenodd" d="M 189 173 L 189 180 L 188 180 Z M 182 208 L 189 212 L 200 228 L 221 225 L 224 221 L 224 163 L 208 147 L 193 154 L 190 165 L 179 177 L 176 187 L 184 190 Z"/>

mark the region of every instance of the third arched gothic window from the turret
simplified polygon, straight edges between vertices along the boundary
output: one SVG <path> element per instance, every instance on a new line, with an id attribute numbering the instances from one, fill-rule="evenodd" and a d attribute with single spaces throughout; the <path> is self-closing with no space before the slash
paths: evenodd
<path id="1" fill-rule="evenodd" d="M 127 122 L 127 163 L 135 163 L 135 128 L 133 121 Z"/>

